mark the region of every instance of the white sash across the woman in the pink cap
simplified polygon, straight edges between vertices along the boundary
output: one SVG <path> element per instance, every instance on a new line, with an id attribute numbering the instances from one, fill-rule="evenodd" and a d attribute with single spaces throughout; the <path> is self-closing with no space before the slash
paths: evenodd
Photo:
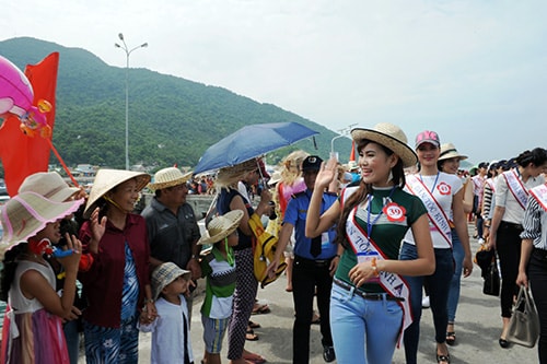
<path id="1" fill-rule="evenodd" d="M 441 236 L 452 247 L 452 232 L 450 227 L 450 219 L 444 213 L 435 197 L 429 191 L 423 183 L 416 175 L 407 176 L 407 187 L 409 191 L 419 197 L 428 209 L 429 221 L 435 225 Z"/>

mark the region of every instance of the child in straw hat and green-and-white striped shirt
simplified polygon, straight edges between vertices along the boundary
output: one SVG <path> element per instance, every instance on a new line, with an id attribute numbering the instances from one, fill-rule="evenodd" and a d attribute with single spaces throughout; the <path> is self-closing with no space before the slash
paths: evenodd
<path id="1" fill-rule="evenodd" d="M 236 272 L 232 247 L 237 245 L 236 228 L 243 211 L 234 210 L 217 216 L 207 226 L 208 237 L 199 245 L 212 244 L 210 253 L 201 260 L 202 277 L 207 278 L 206 296 L 201 306 L 205 354 L 202 363 L 220 364 L 222 340 L 232 316 Z"/>

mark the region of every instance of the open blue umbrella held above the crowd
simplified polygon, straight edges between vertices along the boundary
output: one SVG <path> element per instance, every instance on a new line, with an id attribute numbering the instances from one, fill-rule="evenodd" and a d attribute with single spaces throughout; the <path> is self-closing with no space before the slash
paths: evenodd
<path id="1" fill-rule="evenodd" d="M 209 146 L 194 173 L 233 166 L 317 133 L 298 122 L 249 125 Z"/>

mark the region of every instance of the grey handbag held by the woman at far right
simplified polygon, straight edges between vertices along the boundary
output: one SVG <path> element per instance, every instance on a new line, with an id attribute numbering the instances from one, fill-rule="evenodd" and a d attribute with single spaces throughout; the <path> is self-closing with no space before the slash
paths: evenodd
<path id="1" fill-rule="evenodd" d="M 509 321 L 508 341 L 534 348 L 539 338 L 539 316 L 528 290 L 521 285 L 516 304 Z"/>

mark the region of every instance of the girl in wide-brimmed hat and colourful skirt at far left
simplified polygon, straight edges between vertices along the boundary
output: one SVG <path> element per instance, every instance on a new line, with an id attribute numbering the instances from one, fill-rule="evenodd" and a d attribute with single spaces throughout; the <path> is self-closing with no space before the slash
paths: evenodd
<path id="1" fill-rule="evenodd" d="M 58 257 L 66 279 L 61 295 L 55 291 L 55 273 L 43 255 L 61 238 L 59 221 L 78 210 L 82 200 L 54 202 L 35 192 L 14 196 L 2 209 L 2 244 L 5 251 L 0 300 L 8 301 L 2 363 L 69 363 L 61 318 L 72 310 L 75 278 L 82 245 L 67 238 L 67 250 Z M 24 243 L 20 243 L 24 242 Z"/>

